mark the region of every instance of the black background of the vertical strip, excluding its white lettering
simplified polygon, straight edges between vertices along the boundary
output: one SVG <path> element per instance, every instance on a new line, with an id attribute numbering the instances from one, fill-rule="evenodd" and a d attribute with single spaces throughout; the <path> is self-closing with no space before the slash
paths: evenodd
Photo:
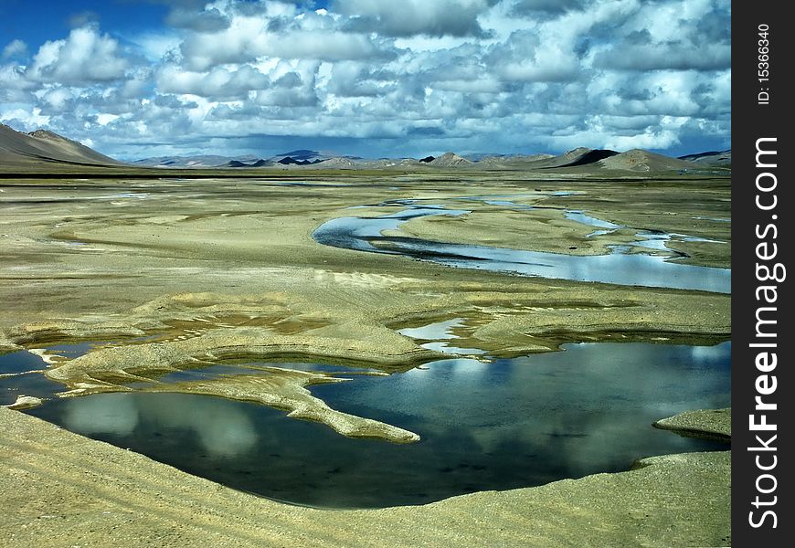
<path id="1" fill-rule="evenodd" d="M 732 165 L 732 538 L 737 546 L 789 546 L 793 542 L 790 469 L 795 466 L 791 462 L 792 447 L 789 436 L 791 431 L 788 416 L 792 415 L 789 406 L 792 394 L 790 368 L 795 366 L 790 345 L 795 345 L 795 336 L 791 332 L 792 323 L 788 321 L 795 316 L 791 299 L 791 277 L 795 277 L 795 269 L 787 272 L 787 279 L 782 282 L 760 282 L 756 276 L 756 265 L 762 262 L 757 258 L 757 245 L 760 241 L 757 226 L 764 229 L 768 223 L 778 227 L 778 237 L 774 240 L 772 232 L 768 233 L 768 242 L 778 245 L 778 255 L 768 260 L 768 264 L 781 262 L 785 267 L 793 267 L 790 260 L 791 248 L 795 233 L 791 230 L 788 220 L 790 210 L 795 207 L 791 186 L 792 165 L 795 164 L 792 134 L 795 133 L 795 118 L 790 115 L 790 102 L 795 100 L 793 93 L 792 60 L 795 54 L 792 47 L 792 36 L 795 29 L 787 13 L 791 10 L 788 2 L 736 2 L 732 13 L 732 152 L 737 163 Z M 758 76 L 759 51 L 758 27 L 768 25 L 769 40 L 769 81 L 760 82 Z M 768 104 L 759 104 L 759 91 L 768 88 Z M 773 145 L 777 151 L 776 167 L 773 169 L 758 168 L 756 161 L 757 140 L 759 138 L 776 138 Z M 771 159 L 770 156 L 767 156 Z M 775 189 L 778 206 L 775 211 L 762 211 L 756 205 L 758 190 L 756 178 L 764 172 L 774 172 L 778 181 Z M 770 181 L 766 177 L 767 181 Z M 763 196 L 769 199 L 769 195 Z M 776 215 L 776 220 L 772 216 Z M 751 504 L 757 496 L 755 486 L 759 474 L 755 457 L 760 454 L 749 451 L 758 445 L 756 435 L 768 439 L 766 432 L 752 432 L 749 429 L 749 415 L 754 413 L 755 396 L 758 395 L 755 382 L 761 374 L 755 364 L 759 349 L 751 348 L 751 342 L 758 342 L 756 337 L 756 312 L 759 303 L 756 298 L 758 285 L 776 284 L 778 300 L 776 306 L 775 329 L 778 336 L 775 349 L 778 356 L 777 368 L 769 374 L 775 374 L 778 386 L 772 395 L 765 400 L 776 403 L 778 409 L 768 412 L 768 423 L 777 425 L 778 438 L 770 444 L 777 448 L 778 463 L 769 473 L 776 476 L 777 488 L 769 495 L 761 498 L 778 497 L 774 506 L 767 509 L 777 514 L 777 526 L 772 528 L 772 519 L 768 516 L 762 527 L 754 528 L 749 523 L 749 512 L 755 511 L 755 519 L 764 511 L 754 508 Z M 772 316 L 768 316 L 772 318 Z M 771 350 L 772 351 L 772 350 Z M 757 412 L 757 414 L 760 412 Z M 791 419 L 790 419 L 791 420 Z M 771 453 L 765 453 L 769 458 Z M 769 462 L 766 461 L 766 462 Z M 770 479 L 766 479 L 770 482 Z M 767 487 L 770 483 L 763 483 Z"/>

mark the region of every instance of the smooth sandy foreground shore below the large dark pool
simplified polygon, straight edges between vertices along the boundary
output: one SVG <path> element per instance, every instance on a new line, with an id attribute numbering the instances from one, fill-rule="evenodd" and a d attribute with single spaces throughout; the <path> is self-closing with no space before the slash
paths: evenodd
<path id="1" fill-rule="evenodd" d="M 626 472 L 425 506 L 335 511 L 231 490 L 19 412 L 0 409 L 0 426 L 0 540 L 9 545 L 731 543 L 730 451 L 643 458 Z"/>

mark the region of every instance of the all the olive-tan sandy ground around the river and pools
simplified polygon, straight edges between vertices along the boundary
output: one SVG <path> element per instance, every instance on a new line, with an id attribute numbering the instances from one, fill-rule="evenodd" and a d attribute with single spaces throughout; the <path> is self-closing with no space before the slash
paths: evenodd
<path id="1" fill-rule="evenodd" d="M 536 188 L 585 192 L 593 205 L 585 204 L 583 195 L 566 205 L 632 227 L 641 226 L 633 218 L 643 216 L 635 213 L 643 191 L 641 211 L 656 212 L 650 217 L 655 228 L 726 237 L 727 224 L 705 222 L 700 232 L 679 224 L 677 217 L 685 216 L 684 183 L 657 188 L 649 181 L 477 177 L 394 174 L 379 180 L 343 174 L 323 176 L 315 182 L 320 185 L 177 176 L 5 181 L 0 184 L 0 349 L 111 342 L 75 360 L 50 357 L 48 376 L 64 385 L 66 395 L 84 395 L 252 357 L 302 356 L 385 373 L 405 370 L 440 354 L 396 330 L 450 318 L 464 320 L 456 329 L 458 344 L 490 356 L 543 352 L 562 342 L 714 343 L 729 337 L 728 295 L 451 269 L 327 248 L 311 237 L 326 219 L 364 211 L 347 209 L 353 205 L 526 195 Z M 686 216 L 727 216 L 727 180 L 688 184 L 694 195 L 705 197 L 691 200 L 700 205 L 686 205 L 691 207 Z M 665 215 L 667 208 L 671 215 Z M 493 212 L 477 228 L 485 230 L 482 243 L 511 247 L 512 230 L 505 230 L 502 240 L 498 235 L 515 215 Z M 539 249 L 556 237 L 564 245 L 581 237 L 553 220 L 542 231 Z M 647 218 L 642 227 L 650 222 Z M 461 234 L 473 238 L 477 230 Z M 723 256 L 714 250 L 701 258 L 695 249 L 688 253 L 701 264 L 726 265 L 728 246 L 721 248 Z M 300 408 L 298 416 L 325 419 L 330 427 L 334 417 L 340 419 L 334 410 L 323 410 L 320 400 L 302 396 L 304 381 L 323 378 L 299 382 L 278 373 L 273 378 L 265 388 L 243 379 L 199 391 L 259 397 L 268 405 L 277 405 L 268 398 L 282 398 L 284 404 L 292 397 L 283 406 Z M 727 454 L 656 458 L 653 466 L 627 474 L 564 481 L 557 488 L 478 493 L 422 508 L 308 511 L 226 490 L 2 411 L 0 445 L 5 469 L 13 472 L 3 479 L 0 522 L 5 538 L 16 535 L 19 545 L 100 545 L 108 535 L 119 539 L 117 545 L 185 546 L 207 539 L 219 545 L 417 545 L 423 539 L 431 545 L 727 543 Z M 389 425 L 367 420 L 348 416 L 347 426 L 337 429 L 353 435 L 369 435 L 369 427 L 390 431 Z M 700 482 L 696 490 L 693 481 Z M 129 501 L 128 491 L 134 493 Z M 208 492 L 213 496 L 207 498 Z"/>

